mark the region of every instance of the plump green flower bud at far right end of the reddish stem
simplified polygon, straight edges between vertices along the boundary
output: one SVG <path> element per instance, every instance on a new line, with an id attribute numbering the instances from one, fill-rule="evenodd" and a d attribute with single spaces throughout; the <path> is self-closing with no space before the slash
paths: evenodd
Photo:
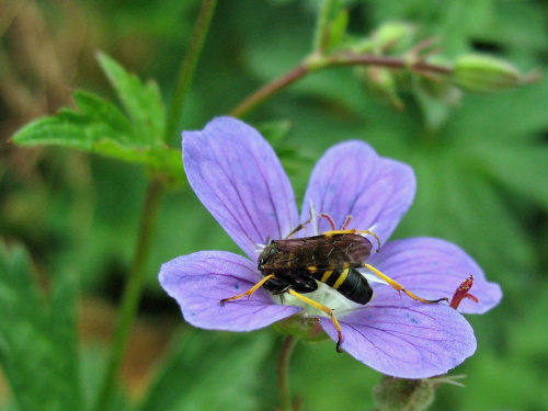
<path id="1" fill-rule="evenodd" d="M 453 81 L 465 90 L 487 93 L 517 87 L 523 77 L 505 60 L 476 54 L 457 58 Z"/>

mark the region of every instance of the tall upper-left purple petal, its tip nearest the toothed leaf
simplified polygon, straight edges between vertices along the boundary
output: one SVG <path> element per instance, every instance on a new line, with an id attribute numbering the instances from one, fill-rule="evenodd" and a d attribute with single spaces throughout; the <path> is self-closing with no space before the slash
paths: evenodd
<path id="1" fill-rule="evenodd" d="M 183 133 L 189 183 L 235 242 L 256 260 L 256 244 L 281 239 L 298 225 L 289 180 L 266 140 L 246 123 L 213 119 Z"/>

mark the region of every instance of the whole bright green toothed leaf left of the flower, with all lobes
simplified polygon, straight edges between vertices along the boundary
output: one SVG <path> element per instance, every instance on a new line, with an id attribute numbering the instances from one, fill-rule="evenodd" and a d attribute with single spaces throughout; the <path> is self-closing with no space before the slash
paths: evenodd
<path id="1" fill-rule="evenodd" d="M 75 91 L 79 111 L 61 109 L 36 119 L 13 137 L 22 146 L 54 145 L 96 152 L 145 164 L 156 173 L 181 181 L 181 151 L 163 142 L 165 111 L 153 82 L 140 80 L 104 54 L 99 60 L 126 111 L 94 94 Z"/>

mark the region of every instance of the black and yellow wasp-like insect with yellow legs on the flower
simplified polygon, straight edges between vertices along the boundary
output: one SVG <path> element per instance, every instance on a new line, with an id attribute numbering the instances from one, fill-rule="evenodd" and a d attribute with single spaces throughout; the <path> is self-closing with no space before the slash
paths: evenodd
<path id="1" fill-rule="evenodd" d="M 316 292 L 318 282 L 327 284 L 353 302 L 366 305 L 373 299 L 373 288 L 357 269 L 367 269 L 396 290 L 406 293 L 414 300 L 427 304 L 448 301 L 447 298 L 436 300 L 421 298 L 367 264 L 366 261 L 369 259 L 374 246 L 366 236 L 376 239 L 376 252 L 380 250 L 380 240 L 373 231 L 347 229 L 352 216 L 346 217 L 340 230 L 335 229 L 334 221 L 329 215 L 319 214 L 319 217 L 328 219 L 332 230 L 319 236 L 290 238 L 310 222 L 311 216 L 308 221 L 300 224 L 285 239 L 272 240 L 262 250 L 258 260 L 258 269 L 263 278 L 246 293 L 225 298 L 219 301 L 219 305 L 222 306 L 246 296 L 249 298 L 261 286 L 274 295 L 289 294 L 326 312 L 331 318 L 338 332 L 335 347 L 338 352 L 342 352 L 342 330 L 333 311 L 302 295 Z"/>

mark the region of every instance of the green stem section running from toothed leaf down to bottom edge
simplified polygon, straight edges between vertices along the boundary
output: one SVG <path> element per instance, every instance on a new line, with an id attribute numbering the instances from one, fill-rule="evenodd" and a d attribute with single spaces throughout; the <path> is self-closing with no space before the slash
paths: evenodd
<path id="1" fill-rule="evenodd" d="M 150 254 L 152 233 L 156 225 L 156 218 L 161 205 L 161 198 L 164 192 L 163 183 L 158 180 L 151 180 L 142 208 L 139 237 L 135 251 L 134 262 L 129 278 L 127 279 L 124 295 L 122 297 L 122 308 L 118 317 L 118 323 L 114 333 L 113 347 L 106 364 L 106 374 L 101 390 L 99 391 L 96 411 L 109 410 L 112 397 L 116 389 L 116 380 L 119 375 L 119 368 L 127 345 L 129 331 L 137 313 L 137 307 L 140 300 L 142 284 L 146 273 L 146 265 Z"/>

